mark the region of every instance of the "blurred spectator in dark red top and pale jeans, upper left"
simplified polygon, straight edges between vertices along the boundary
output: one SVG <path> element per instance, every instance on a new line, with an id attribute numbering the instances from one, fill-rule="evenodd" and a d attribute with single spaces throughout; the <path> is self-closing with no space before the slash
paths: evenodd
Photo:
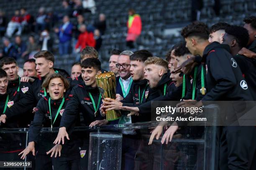
<path id="1" fill-rule="evenodd" d="M 20 11 L 15 10 L 13 18 L 10 20 L 7 26 L 6 35 L 11 37 L 16 29 L 18 29 L 17 35 L 21 34 L 21 18 L 20 18 Z"/>

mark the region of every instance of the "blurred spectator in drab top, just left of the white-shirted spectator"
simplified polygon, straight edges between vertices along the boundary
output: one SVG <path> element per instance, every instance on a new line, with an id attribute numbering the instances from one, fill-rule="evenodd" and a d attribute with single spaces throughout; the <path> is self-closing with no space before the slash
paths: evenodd
<path id="1" fill-rule="evenodd" d="M 35 41 L 35 38 L 33 35 L 30 35 L 28 37 L 28 45 L 27 45 L 27 50 L 25 52 L 23 52 L 23 54 L 21 55 L 21 57 L 23 58 L 33 58 L 34 54 L 40 50 L 40 47 L 38 46 L 38 44 Z"/>

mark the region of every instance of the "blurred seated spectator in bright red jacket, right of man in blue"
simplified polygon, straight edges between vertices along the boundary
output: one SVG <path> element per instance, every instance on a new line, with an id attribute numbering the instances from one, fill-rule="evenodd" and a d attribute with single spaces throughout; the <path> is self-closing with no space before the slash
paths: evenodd
<path id="1" fill-rule="evenodd" d="M 80 32 L 81 33 L 78 36 L 78 41 L 77 41 L 77 44 L 75 46 L 76 51 L 81 52 L 82 49 L 84 49 L 87 46 L 95 48 L 96 41 L 93 37 L 93 33 L 92 32 L 87 32 L 86 26 L 84 24 L 82 24 L 80 26 Z M 80 47 L 80 49 L 79 49 L 79 47 Z"/>

